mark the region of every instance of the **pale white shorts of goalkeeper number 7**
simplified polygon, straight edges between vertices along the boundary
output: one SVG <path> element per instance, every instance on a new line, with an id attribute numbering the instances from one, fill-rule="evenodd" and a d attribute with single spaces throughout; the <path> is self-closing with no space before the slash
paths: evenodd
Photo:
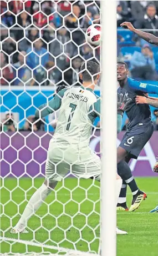
<path id="1" fill-rule="evenodd" d="M 45 165 L 45 177 L 49 182 L 60 181 L 70 174 L 85 179 L 95 178 L 100 172 L 101 160 L 89 146 L 79 149 L 78 145 L 61 145 L 50 140 Z"/>

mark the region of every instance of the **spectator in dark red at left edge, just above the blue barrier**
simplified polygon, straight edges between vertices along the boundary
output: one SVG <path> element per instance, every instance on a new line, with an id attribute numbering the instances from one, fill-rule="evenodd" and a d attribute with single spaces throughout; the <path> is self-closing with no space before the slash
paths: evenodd
<path id="1" fill-rule="evenodd" d="M 11 82 L 12 79 L 14 78 L 13 68 L 9 64 L 7 64 L 6 58 L 3 52 L 1 52 L 0 61 L 1 61 L 1 77 L 2 77 L 0 82 L 2 86 L 8 86 L 9 82 Z"/>

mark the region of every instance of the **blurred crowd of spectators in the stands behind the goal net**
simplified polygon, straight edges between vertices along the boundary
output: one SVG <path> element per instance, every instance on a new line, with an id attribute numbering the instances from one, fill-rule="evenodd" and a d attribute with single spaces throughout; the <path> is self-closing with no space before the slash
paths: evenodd
<path id="1" fill-rule="evenodd" d="M 85 42 L 86 28 L 100 23 L 100 1 L 1 1 L 1 84 L 13 86 L 78 86 L 85 59 L 100 60 L 100 49 Z M 158 29 L 158 1 L 117 1 L 118 27 L 130 21 L 136 28 Z M 110 10 L 109 10 L 110 11 Z M 155 35 L 158 32 L 152 31 Z M 125 38 L 118 34 L 118 57 Z M 132 54 L 130 70 L 139 79 L 157 79 L 150 47 Z M 140 62 L 137 59 L 141 58 Z M 140 70 L 141 69 L 141 70 Z M 137 73 L 139 71 L 139 73 Z"/>

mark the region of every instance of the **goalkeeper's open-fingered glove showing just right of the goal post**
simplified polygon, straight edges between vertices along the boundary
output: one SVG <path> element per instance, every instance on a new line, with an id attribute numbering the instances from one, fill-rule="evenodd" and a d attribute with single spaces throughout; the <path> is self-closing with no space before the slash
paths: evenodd
<path id="1" fill-rule="evenodd" d="M 126 110 L 126 106 L 132 101 L 131 98 L 128 97 L 128 94 L 118 93 L 118 114 L 123 116 L 124 111 Z"/>

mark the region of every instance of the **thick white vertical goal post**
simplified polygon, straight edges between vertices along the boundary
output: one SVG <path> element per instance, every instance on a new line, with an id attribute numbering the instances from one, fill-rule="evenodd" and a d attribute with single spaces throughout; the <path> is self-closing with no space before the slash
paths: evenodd
<path id="1" fill-rule="evenodd" d="M 101 53 L 101 252 L 116 255 L 116 1 L 101 1 L 102 53 Z"/>

